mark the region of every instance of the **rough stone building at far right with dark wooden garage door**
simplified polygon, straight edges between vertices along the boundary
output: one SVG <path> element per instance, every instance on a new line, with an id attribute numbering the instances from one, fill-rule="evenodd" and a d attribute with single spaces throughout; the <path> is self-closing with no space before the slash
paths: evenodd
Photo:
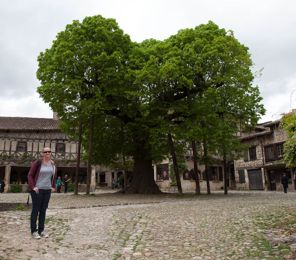
<path id="1" fill-rule="evenodd" d="M 281 176 L 287 174 L 289 189 L 295 190 L 294 169 L 281 161 L 287 132 L 279 127 L 280 120 L 258 124 L 250 134 L 240 137 L 241 144 L 250 145 L 244 158 L 234 162 L 237 189 L 283 190 Z"/>

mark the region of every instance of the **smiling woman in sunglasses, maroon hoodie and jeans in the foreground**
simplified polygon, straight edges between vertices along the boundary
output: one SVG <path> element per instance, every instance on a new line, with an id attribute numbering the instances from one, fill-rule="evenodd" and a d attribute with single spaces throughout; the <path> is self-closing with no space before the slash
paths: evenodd
<path id="1" fill-rule="evenodd" d="M 37 160 L 33 163 L 29 173 L 30 194 L 32 198 L 31 236 L 33 238 L 48 238 L 44 232 L 44 221 L 50 195 L 55 191 L 57 183 L 57 169 L 54 161 L 50 160 L 51 150 L 43 148 L 41 165 L 37 167 Z M 38 169 L 37 169 L 38 168 Z M 38 230 L 37 230 L 37 216 Z M 38 232 L 37 232 L 38 231 Z"/>

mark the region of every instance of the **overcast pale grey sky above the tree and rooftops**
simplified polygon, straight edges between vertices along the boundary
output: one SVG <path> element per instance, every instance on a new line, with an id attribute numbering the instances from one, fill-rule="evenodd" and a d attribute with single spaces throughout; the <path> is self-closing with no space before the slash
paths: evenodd
<path id="1" fill-rule="evenodd" d="M 259 86 L 266 116 L 273 121 L 296 108 L 295 1 L 2 1 L 0 9 L 0 116 L 52 118 L 36 93 L 37 56 L 73 20 L 101 14 L 115 18 L 132 41 L 164 40 L 209 20 L 233 30 L 250 48 L 254 72 L 264 67 Z M 294 18 L 293 18 L 294 17 Z M 293 93 L 292 93 L 293 92 Z"/>

